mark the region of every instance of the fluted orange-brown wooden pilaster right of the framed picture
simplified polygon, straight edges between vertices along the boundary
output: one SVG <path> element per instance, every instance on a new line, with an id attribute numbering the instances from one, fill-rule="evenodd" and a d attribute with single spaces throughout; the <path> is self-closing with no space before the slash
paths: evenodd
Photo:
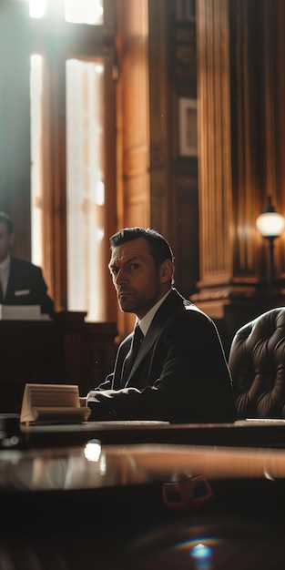
<path id="1" fill-rule="evenodd" d="M 200 288 L 232 274 L 227 0 L 198 3 L 198 176 Z"/>

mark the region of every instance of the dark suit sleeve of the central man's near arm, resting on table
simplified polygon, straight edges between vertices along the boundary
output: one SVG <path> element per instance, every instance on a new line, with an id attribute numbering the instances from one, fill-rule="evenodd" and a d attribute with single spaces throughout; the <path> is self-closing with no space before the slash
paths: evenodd
<path id="1" fill-rule="evenodd" d="M 229 368 L 214 323 L 183 310 L 158 336 L 145 387 L 91 392 L 88 406 L 91 420 L 234 421 Z"/>

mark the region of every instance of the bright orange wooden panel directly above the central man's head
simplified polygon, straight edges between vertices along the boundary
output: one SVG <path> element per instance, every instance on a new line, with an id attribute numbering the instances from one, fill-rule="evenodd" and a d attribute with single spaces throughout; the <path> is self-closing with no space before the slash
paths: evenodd
<path id="1" fill-rule="evenodd" d="M 148 204 L 148 25 L 147 4 L 124 2 L 124 46 L 121 61 L 121 83 L 124 86 L 122 156 L 125 208 L 136 199 Z M 125 12 L 126 10 L 126 12 Z M 122 16 L 123 17 L 123 16 Z M 139 192 L 137 188 L 139 187 Z M 142 212 L 143 213 L 143 212 Z M 125 225 L 125 220 L 122 220 Z M 141 216 L 140 225 L 148 224 Z"/>

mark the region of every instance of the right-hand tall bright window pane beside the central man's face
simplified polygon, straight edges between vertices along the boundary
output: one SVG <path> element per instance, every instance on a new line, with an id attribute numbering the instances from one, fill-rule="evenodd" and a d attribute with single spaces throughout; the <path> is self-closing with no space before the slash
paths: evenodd
<path id="1" fill-rule="evenodd" d="M 66 62 L 67 299 L 104 320 L 104 65 Z M 97 291 L 100 294 L 97 294 Z"/>

